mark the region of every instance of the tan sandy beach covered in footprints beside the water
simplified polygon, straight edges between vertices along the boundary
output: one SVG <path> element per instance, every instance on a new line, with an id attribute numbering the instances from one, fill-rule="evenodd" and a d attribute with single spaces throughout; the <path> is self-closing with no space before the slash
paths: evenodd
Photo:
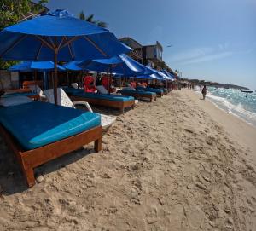
<path id="1" fill-rule="evenodd" d="M 200 98 L 140 101 L 33 188 L 0 138 L 0 230 L 256 230 L 256 129 Z"/>

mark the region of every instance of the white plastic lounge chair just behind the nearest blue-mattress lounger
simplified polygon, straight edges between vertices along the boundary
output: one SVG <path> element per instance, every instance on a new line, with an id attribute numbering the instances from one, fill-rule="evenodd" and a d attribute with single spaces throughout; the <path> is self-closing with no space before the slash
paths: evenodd
<path id="1" fill-rule="evenodd" d="M 54 91 L 52 89 L 44 90 L 44 94 L 50 103 L 55 103 Z M 78 105 L 82 105 L 86 107 L 90 113 L 93 113 L 90 107 L 90 104 L 88 102 L 71 101 L 70 98 L 67 96 L 66 92 L 61 88 L 57 89 L 57 95 L 58 95 L 58 105 L 64 106 L 64 107 L 73 107 L 73 108 L 76 108 L 76 106 Z M 116 117 L 114 116 L 108 116 L 104 114 L 99 114 L 99 115 L 101 116 L 102 129 L 104 130 L 108 129 L 116 120 Z"/>

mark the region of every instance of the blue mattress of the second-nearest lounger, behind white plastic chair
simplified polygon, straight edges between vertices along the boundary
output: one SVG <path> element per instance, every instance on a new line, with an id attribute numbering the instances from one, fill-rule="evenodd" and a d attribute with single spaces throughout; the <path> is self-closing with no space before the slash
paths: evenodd
<path id="1" fill-rule="evenodd" d="M 64 89 L 64 90 L 67 92 L 67 94 L 84 97 L 84 98 L 90 98 L 90 99 L 100 99 L 100 100 L 108 100 L 108 101 L 134 101 L 134 97 L 131 97 L 131 96 L 85 93 L 84 90 L 70 89 L 70 88 Z"/>

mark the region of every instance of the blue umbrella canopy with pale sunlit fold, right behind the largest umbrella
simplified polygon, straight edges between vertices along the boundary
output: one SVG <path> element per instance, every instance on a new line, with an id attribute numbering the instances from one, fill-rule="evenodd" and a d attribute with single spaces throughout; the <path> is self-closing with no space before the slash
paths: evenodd
<path id="1" fill-rule="evenodd" d="M 126 77 L 145 75 L 153 73 L 147 66 L 122 54 L 109 59 L 98 59 L 92 61 L 72 61 L 65 65 L 69 70 L 88 70 L 95 72 L 113 72 Z"/>

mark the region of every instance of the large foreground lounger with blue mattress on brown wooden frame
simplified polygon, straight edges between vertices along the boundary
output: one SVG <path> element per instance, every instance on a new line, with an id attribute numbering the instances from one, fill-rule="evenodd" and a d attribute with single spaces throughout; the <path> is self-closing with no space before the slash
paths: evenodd
<path id="1" fill-rule="evenodd" d="M 48 102 L 0 106 L 0 134 L 15 153 L 29 187 L 33 169 L 94 141 L 102 149 L 101 118 L 96 113 Z"/>

